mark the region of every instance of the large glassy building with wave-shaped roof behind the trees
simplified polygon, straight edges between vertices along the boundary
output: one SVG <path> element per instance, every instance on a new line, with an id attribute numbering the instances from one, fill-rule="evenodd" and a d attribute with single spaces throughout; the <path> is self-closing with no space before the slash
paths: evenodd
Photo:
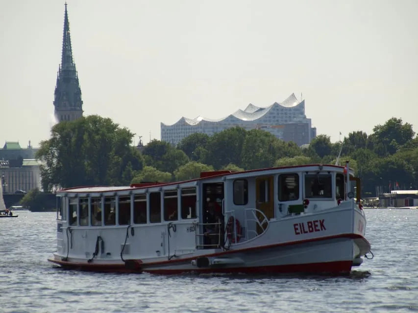
<path id="1" fill-rule="evenodd" d="M 190 134 L 211 136 L 234 126 L 262 129 L 279 139 L 294 141 L 298 146 L 309 144 L 317 132 L 305 115 L 305 100 L 299 101 L 292 93 L 281 103 L 274 102 L 267 108 L 249 104 L 244 111 L 238 110 L 220 119 L 182 117 L 172 125 L 161 123 L 161 140 L 176 145 Z"/>

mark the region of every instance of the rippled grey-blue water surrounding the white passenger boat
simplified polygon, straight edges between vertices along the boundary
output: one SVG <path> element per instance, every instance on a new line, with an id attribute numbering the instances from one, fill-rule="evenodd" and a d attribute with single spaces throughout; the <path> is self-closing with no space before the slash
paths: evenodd
<path id="1" fill-rule="evenodd" d="M 55 213 L 0 219 L 0 312 L 418 312 L 418 210 L 366 209 L 374 259 L 349 277 L 63 270 Z"/>

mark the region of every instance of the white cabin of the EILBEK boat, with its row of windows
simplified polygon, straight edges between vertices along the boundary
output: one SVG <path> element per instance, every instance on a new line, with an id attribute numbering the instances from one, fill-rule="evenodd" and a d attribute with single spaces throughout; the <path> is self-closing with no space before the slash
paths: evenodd
<path id="1" fill-rule="evenodd" d="M 345 173 L 342 166 L 313 164 L 205 172 L 181 182 L 64 189 L 57 192 L 58 232 L 71 229 L 72 240 L 77 233 L 83 238 L 90 232 L 111 234 L 110 246 L 126 255 L 135 251 L 170 259 L 198 249 L 228 249 L 263 234 L 271 220 L 332 209 L 353 198 Z M 357 192 L 359 201 L 358 180 Z M 148 240 L 129 247 L 125 236 L 138 233 Z M 58 246 L 65 245 L 63 240 L 58 237 Z"/>

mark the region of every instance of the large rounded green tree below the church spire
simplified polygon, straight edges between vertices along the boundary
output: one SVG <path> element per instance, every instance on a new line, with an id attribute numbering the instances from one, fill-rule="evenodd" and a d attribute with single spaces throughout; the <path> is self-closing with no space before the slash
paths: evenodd
<path id="1" fill-rule="evenodd" d="M 90 115 L 52 127 L 36 157 L 45 191 L 54 186 L 118 185 L 126 169 L 142 169 L 143 160 L 131 146 L 134 134 L 109 118 Z"/>

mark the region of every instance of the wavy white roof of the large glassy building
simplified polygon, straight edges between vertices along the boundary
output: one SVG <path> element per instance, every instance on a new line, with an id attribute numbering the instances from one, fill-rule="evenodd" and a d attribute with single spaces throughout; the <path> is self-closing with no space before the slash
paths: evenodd
<path id="1" fill-rule="evenodd" d="M 273 107 L 275 106 L 281 106 L 284 108 L 293 108 L 295 106 L 297 106 L 298 104 L 300 104 L 301 102 L 299 102 L 295 96 L 295 93 L 292 93 L 286 100 L 284 100 L 281 103 L 277 103 L 274 102 L 272 105 L 268 106 L 267 108 L 261 108 L 261 107 L 257 107 L 253 104 L 249 104 L 246 109 L 243 110 L 238 110 L 226 117 L 222 117 L 219 119 L 210 119 L 210 118 L 206 118 L 203 116 L 197 116 L 196 118 L 187 118 L 187 117 L 182 117 L 180 118 L 176 123 L 174 124 L 178 124 L 178 123 L 187 123 L 189 125 L 197 125 L 199 124 L 201 121 L 206 121 L 206 122 L 220 122 L 223 121 L 225 119 L 239 119 L 242 121 L 253 121 L 256 119 L 259 119 L 260 117 L 262 117 L 263 115 L 265 115 L 267 112 L 269 112 Z M 169 126 L 166 125 L 164 123 L 161 123 L 164 126 Z M 172 124 L 172 125 L 174 125 Z"/>

